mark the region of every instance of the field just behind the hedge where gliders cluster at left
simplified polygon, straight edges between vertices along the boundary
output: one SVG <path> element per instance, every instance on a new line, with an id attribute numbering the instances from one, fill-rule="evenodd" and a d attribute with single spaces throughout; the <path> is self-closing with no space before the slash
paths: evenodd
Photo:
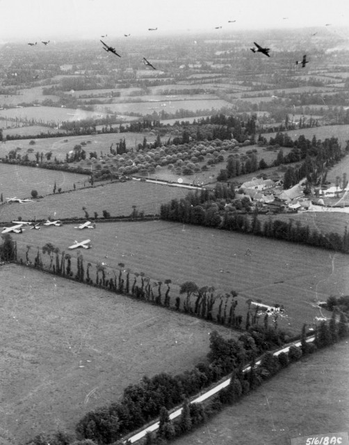
<path id="1" fill-rule="evenodd" d="M 0 164 L 1 166 L 1 164 Z M 37 170 L 35 170 L 36 172 Z M 51 170 L 38 169 L 39 172 L 47 172 L 47 182 L 50 181 L 51 186 L 47 187 L 46 193 L 53 193 L 54 182 L 52 177 L 54 173 L 61 178 L 64 184 L 67 184 L 65 172 L 54 172 Z M 59 176 L 60 175 L 60 176 Z M 71 175 L 71 173 L 69 174 Z M 80 181 L 86 178 L 83 175 L 78 176 Z M 87 183 L 87 181 L 86 181 Z M 44 186 L 45 183 L 43 183 Z M 58 184 L 57 184 L 58 186 Z M 73 181 L 67 184 L 69 188 L 73 188 Z M 30 195 L 31 188 L 29 189 Z M 114 184 L 105 184 L 94 188 L 83 188 L 82 190 L 66 193 L 56 193 L 49 195 L 35 202 L 27 202 L 18 204 L 3 204 L 0 207 L 0 220 L 10 221 L 22 216 L 23 220 L 47 219 L 51 218 L 70 218 L 77 216 L 85 218 L 82 207 L 86 207 L 90 218 L 93 218 L 96 211 L 102 217 L 103 210 L 108 211 L 111 216 L 129 216 L 136 206 L 138 211 L 144 211 L 145 214 L 156 214 L 160 212 L 161 204 L 165 204 L 174 198 L 184 197 L 188 193 L 188 189 L 179 187 L 169 187 L 167 185 L 156 185 L 152 183 L 144 183 L 140 181 L 117 182 Z M 14 196 L 14 195 L 13 195 Z M 3 197 L 8 197 L 3 195 Z"/>

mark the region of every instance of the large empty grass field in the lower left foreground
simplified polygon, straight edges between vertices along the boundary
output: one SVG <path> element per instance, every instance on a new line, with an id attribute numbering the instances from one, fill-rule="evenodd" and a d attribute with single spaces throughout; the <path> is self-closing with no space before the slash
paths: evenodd
<path id="1" fill-rule="evenodd" d="M 1 445 L 74 432 L 128 385 L 205 361 L 224 327 L 8 264 L 0 268 Z"/>

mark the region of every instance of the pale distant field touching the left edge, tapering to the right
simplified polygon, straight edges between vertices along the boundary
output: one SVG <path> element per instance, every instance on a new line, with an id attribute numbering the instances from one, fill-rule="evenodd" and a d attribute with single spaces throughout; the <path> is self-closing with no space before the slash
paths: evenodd
<path id="1" fill-rule="evenodd" d="M 74 108 L 56 108 L 54 106 L 26 106 L 24 108 L 0 110 L 0 116 L 3 118 L 18 118 L 22 120 L 37 119 L 42 120 L 42 122 L 45 123 L 56 122 L 56 124 L 64 121 L 95 118 L 97 115 L 98 114 L 95 111 L 85 111 Z"/>

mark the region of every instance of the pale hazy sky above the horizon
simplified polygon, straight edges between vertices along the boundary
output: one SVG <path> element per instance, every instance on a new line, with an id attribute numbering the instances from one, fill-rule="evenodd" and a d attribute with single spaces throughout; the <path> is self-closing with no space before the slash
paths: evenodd
<path id="1" fill-rule="evenodd" d="M 0 42 L 349 26 L 348 0 L 0 0 Z M 228 20 L 236 20 L 228 23 Z M 222 31 L 215 30 L 222 26 Z M 148 31 L 148 28 L 158 31 Z"/>

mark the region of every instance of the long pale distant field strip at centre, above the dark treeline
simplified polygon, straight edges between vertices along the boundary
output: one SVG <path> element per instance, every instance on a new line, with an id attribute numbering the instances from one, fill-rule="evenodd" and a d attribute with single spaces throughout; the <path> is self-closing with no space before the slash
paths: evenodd
<path id="1" fill-rule="evenodd" d="M 171 102 L 171 104 L 169 103 Z M 106 104 L 106 105 L 95 105 L 95 112 L 97 113 L 107 113 L 107 110 L 111 110 L 113 113 L 138 113 L 139 115 L 152 114 L 154 110 L 161 111 L 165 110 L 170 113 L 175 113 L 181 108 L 184 110 L 197 111 L 211 108 L 220 109 L 223 106 L 230 106 L 229 102 L 222 99 L 211 99 L 211 100 L 184 100 L 172 102 L 170 100 L 163 101 L 166 106 L 161 106 L 157 102 L 129 102 L 128 104 Z"/>

